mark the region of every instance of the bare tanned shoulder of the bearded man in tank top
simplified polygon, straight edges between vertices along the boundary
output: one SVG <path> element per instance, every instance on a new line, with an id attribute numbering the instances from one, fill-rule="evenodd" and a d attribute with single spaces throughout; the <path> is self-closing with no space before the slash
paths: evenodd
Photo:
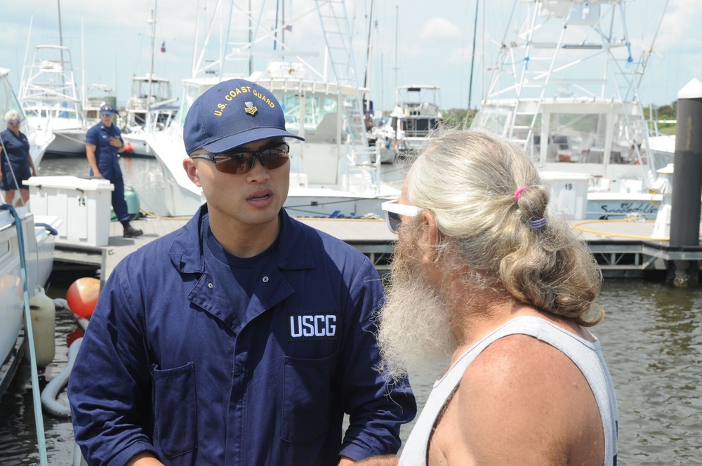
<path id="1" fill-rule="evenodd" d="M 464 453 L 479 464 L 602 464 L 604 432 L 587 380 L 536 338 L 509 335 L 489 345 L 449 408 Z"/>

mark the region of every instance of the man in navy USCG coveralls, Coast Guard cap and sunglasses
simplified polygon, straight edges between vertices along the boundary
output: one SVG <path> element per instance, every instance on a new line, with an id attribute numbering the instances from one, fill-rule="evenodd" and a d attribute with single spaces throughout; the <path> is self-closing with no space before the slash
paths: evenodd
<path id="1" fill-rule="evenodd" d="M 284 138 L 303 138 L 279 102 L 225 81 L 193 102 L 183 138 L 206 204 L 115 267 L 72 370 L 88 464 L 326 466 L 397 452 L 416 401 L 406 378 L 378 370 L 382 281 L 282 207 Z"/>

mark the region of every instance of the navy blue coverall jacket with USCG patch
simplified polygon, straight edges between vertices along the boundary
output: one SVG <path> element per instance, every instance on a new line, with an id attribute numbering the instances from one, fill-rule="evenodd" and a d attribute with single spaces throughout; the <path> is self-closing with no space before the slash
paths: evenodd
<path id="1" fill-rule="evenodd" d="M 374 370 L 383 286 L 371 262 L 282 211 L 274 260 L 248 309 L 232 309 L 218 293 L 232 277 L 204 261 L 205 213 L 122 260 L 102 289 L 69 382 L 88 464 L 140 451 L 246 466 L 395 453 L 416 402 Z"/>

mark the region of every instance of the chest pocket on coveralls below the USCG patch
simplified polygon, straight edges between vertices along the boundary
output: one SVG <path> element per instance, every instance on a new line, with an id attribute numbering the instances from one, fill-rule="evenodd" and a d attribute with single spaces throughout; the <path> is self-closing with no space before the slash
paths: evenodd
<path id="1" fill-rule="evenodd" d="M 338 352 L 322 359 L 286 356 L 282 438 L 308 444 L 329 430 L 331 377 Z"/>

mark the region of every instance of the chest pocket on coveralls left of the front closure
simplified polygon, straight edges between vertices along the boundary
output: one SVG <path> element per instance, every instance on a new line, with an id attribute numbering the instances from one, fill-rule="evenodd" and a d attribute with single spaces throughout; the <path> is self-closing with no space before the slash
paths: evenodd
<path id="1" fill-rule="evenodd" d="M 195 364 L 157 369 L 154 364 L 154 441 L 168 458 L 197 447 Z"/>

